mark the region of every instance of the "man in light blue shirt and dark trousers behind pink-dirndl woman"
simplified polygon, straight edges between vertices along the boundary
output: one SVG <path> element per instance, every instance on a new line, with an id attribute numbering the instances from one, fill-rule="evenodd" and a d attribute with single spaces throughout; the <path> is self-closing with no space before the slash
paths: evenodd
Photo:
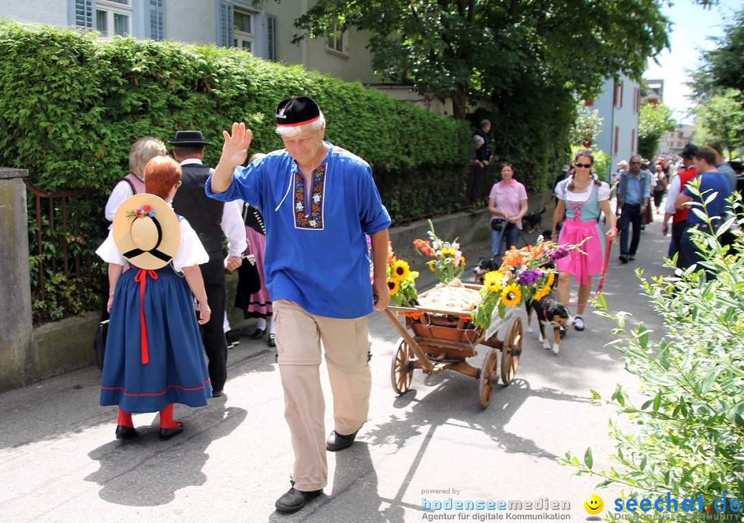
<path id="1" fill-rule="evenodd" d="M 641 157 L 630 157 L 630 170 L 620 174 L 618 183 L 618 208 L 620 214 L 620 261 L 628 263 L 635 260 L 638 244 L 641 243 L 641 224 L 651 197 L 651 173 L 641 169 Z M 633 225 L 633 237 L 628 247 L 630 224 Z"/>

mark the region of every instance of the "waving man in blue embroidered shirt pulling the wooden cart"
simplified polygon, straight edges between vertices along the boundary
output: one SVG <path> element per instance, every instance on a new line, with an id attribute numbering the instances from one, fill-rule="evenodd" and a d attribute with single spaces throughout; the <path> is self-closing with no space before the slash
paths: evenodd
<path id="1" fill-rule="evenodd" d="M 251 131 L 233 123 L 231 133 L 223 132 L 222 157 L 207 193 L 225 202 L 255 202 L 266 223 L 264 269 L 276 318 L 284 417 L 295 449 L 292 488 L 276 507 L 295 512 L 327 485 L 326 451 L 350 447 L 367 420 L 367 316 L 390 302 L 385 269 L 391 220 L 369 164 L 323 140 L 325 119 L 315 100 L 282 100 L 275 118 L 285 149 L 247 167 L 241 165 Z M 321 344 L 333 391 L 335 427 L 327 440 Z"/>

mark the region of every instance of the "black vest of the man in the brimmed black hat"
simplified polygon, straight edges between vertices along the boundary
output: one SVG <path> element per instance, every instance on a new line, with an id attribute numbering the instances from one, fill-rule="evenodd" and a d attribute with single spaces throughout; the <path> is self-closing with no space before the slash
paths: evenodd
<path id="1" fill-rule="evenodd" d="M 205 165 L 182 166 L 182 185 L 173 196 L 173 211 L 188 220 L 207 252 L 222 251 L 222 211 L 225 204 L 204 192 L 211 169 Z"/>

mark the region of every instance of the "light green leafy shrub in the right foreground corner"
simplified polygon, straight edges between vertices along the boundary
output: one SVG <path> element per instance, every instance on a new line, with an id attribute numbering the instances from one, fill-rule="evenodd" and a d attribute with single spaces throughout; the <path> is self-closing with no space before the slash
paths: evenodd
<path id="1" fill-rule="evenodd" d="M 736 208 L 741 209 L 738 196 Z M 744 214 L 736 221 L 744 228 Z M 622 486 L 626 498 L 670 492 L 682 501 L 702 495 L 703 506 L 711 507 L 724 495 L 744 501 L 744 258 L 740 243 L 730 250 L 716 237 L 695 234 L 705 252 L 703 265 L 716 279 L 697 266 L 651 280 L 638 270 L 645 295 L 664 318 L 661 341 L 652 341 L 643 323 L 629 328 L 627 313 L 609 312 L 600 296 L 599 314 L 618 325 L 613 333 L 622 338 L 616 346 L 646 399 L 638 405 L 622 385 L 609 400 L 591 391 L 595 403 L 613 405 L 632 420 L 635 433 L 611 423 L 617 452 L 610 458 L 618 468 L 593 469 L 591 448 L 583 463 L 571 453 L 562 463 L 603 478 L 599 486 Z M 741 512 L 736 514 L 732 520 L 740 521 Z M 680 510 L 674 517 L 697 521 L 696 516 L 702 515 Z"/>

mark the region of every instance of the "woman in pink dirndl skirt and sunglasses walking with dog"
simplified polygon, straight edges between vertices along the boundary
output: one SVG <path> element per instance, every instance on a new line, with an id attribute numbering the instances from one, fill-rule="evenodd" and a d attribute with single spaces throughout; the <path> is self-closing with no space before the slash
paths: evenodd
<path id="1" fill-rule="evenodd" d="M 553 236 L 555 237 L 557 224 L 565 214 L 565 221 L 558 239 L 560 245 L 575 245 L 586 240 L 580 251 L 571 251 L 568 256 L 556 262 L 557 298 L 560 303 L 568 304 L 571 275 L 574 275 L 579 283 L 579 303 L 577 315 L 574 318 L 576 330 L 584 330 L 583 313 L 589 301 L 591 277 L 600 274 L 603 269 L 604 237 L 614 242 L 618 234 L 615 214 L 609 206 L 610 187 L 606 182 L 594 179 L 591 174 L 593 164 L 594 155 L 591 150 L 583 149 L 576 153 L 574 158 L 576 173 L 556 187 L 558 204 L 553 216 Z M 606 216 L 609 226 L 606 234 L 600 228 L 600 211 Z"/>

